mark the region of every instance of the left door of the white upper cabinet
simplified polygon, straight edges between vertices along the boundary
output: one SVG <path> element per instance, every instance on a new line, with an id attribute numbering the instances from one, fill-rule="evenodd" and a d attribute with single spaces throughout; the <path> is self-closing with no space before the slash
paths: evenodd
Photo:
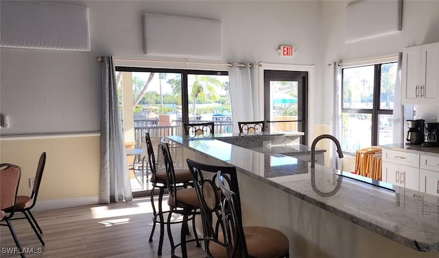
<path id="1" fill-rule="evenodd" d="M 420 91 L 420 46 L 406 47 L 403 50 L 402 70 L 403 104 L 417 104 Z"/>

